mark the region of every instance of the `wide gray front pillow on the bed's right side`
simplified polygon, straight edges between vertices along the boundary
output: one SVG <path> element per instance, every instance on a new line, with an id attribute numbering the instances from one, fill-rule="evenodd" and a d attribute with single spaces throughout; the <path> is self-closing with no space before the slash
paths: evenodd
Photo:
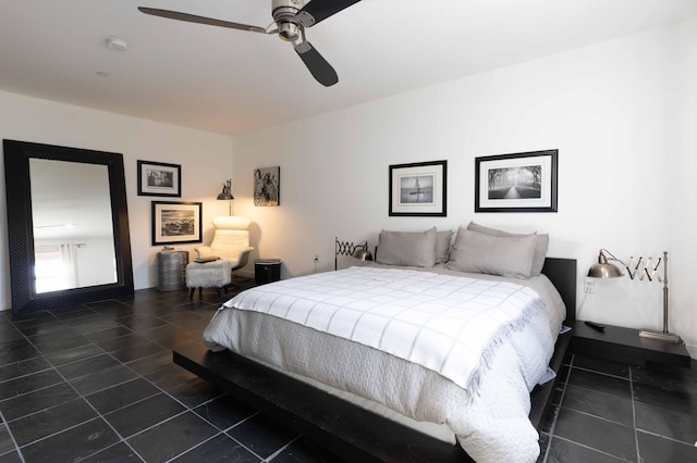
<path id="1" fill-rule="evenodd" d="M 445 268 L 529 278 L 535 240 L 535 235 L 492 236 L 460 227 Z"/>

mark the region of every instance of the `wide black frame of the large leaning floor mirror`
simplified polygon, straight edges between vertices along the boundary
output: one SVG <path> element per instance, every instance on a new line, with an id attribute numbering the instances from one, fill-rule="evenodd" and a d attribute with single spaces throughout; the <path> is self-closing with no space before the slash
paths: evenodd
<path id="1" fill-rule="evenodd" d="M 25 314 L 133 295 L 133 263 L 123 155 L 16 140 L 3 140 L 3 150 L 12 312 Z M 36 292 L 33 275 L 35 258 L 29 178 L 29 159 L 33 158 L 102 164 L 108 167 L 117 283 Z"/>

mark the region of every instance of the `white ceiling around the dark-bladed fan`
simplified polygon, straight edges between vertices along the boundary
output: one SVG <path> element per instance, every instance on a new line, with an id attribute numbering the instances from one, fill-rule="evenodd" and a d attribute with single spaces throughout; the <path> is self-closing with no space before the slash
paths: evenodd
<path id="1" fill-rule="evenodd" d="M 697 14 L 697 0 L 363 0 L 307 29 L 339 74 L 326 88 L 276 36 L 137 7 L 271 23 L 271 0 L 3 1 L 0 90 L 235 135 Z"/>

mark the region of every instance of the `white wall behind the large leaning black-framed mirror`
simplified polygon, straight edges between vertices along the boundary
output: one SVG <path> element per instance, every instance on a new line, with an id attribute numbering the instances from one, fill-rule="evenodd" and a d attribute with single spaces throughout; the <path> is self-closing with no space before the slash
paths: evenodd
<path id="1" fill-rule="evenodd" d="M 0 91 L 0 138 L 123 154 L 136 289 L 157 286 L 156 255 L 161 247 L 150 245 L 151 201 L 203 202 L 205 241 L 212 237 L 211 218 L 228 215 L 228 202 L 216 197 L 232 176 L 229 136 Z M 137 196 L 137 160 L 180 164 L 182 198 Z M 0 309 L 7 310 L 11 308 L 11 295 L 3 162 L 0 195 Z M 192 251 L 194 246 L 174 247 Z"/>

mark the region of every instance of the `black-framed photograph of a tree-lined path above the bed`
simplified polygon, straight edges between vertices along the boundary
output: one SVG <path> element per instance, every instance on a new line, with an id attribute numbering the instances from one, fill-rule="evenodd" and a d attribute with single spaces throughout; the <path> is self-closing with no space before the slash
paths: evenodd
<path id="1" fill-rule="evenodd" d="M 558 154 L 475 158 L 475 212 L 557 212 Z"/>

